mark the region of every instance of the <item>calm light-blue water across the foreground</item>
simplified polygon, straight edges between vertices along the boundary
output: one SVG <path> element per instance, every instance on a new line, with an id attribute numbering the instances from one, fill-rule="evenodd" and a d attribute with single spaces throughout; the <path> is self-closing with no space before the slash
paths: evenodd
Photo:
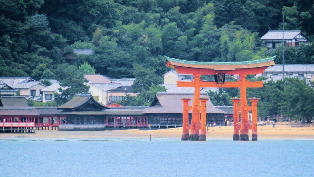
<path id="1" fill-rule="evenodd" d="M 314 141 L 0 141 L 0 176 L 314 176 Z"/>

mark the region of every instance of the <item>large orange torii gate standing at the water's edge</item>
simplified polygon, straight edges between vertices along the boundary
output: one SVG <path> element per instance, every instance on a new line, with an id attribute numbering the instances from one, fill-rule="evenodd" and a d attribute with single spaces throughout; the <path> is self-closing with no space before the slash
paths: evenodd
<path id="1" fill-rule="evenodd" d="M 252 106 L 248 106 L 246 88 L 263 87 L 263 82 L 250 82 L 245 77 L 247 74 L 263 73 L 264 69 L 274 66 L 273 60 L 276 56 L 245 62 L 196 62 L 164 57 L 166 58 L 166 65 L 176 69 L 177 73 L 192 74 L 194 76 L 194 79 L 190 82 L 177 81 L 178 87 L 194 87 L 195 90 L 192 106 L 188 104 L 190 98 L 181 99 L 183 101 L 182 140 L 206 140 L 206 101 L 208 101 L 208 98 L 200 98 L 200 87 L 240 88 L 240 98 L 232 99 L 234 103 L 233 140 L 249 140 L 249 129 L 252 129 L 252 140 L 257 140 L 257 102 L 259 99 L 250 98 Z M 240 80 L 225 82 L 225 74 L 237 74 L 240 76 Z M 201 75 L 215 75 L 215 82 L 204 82 L 200 79 Z M 240 106 L 239 102 L 241 102 Z M 189 124 L 190 110 L 192 111 L 191 124 Z M 238 125 L 239 110 L 241 111 L 241 125 Z M 250 110 L 252 111 L 252 125 L 249 125 L 248 120 L 248 111 Z M 189 134 L 189 130 L 191 130 L 191 134 Z"/>

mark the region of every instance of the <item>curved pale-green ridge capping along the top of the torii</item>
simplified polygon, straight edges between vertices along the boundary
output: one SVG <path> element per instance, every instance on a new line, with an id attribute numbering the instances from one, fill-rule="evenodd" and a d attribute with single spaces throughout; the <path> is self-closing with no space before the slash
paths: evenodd
<path id="1" fill-rule="evenodd" d="M 199 61 L 187 61 L 187 60 L 179 60 L 175 58 L 170 58 L 164 56 L 168 61 L 184 63 L 184 64 L 199 64 L 199 65 L 241 65 L 241 64 L 257 64 L 268 61 L 273 61 L 276 58 L 276 55 L 270 58 L 260 59 L 260 60 L 251 60 L 251 61 L 241 61 L 241 62 L 199 62 Z"/>

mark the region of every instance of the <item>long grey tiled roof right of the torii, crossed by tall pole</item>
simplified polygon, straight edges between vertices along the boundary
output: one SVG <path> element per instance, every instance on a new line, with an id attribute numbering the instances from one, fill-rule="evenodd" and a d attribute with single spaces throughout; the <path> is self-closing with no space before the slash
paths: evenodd
<path id="1" fill-rule="evenodd" d="M 282 72 L 282 64 L 276 64 L 264 72 Z M 284 72 L 314 72 L 314 64 L 285 64 Z"/>

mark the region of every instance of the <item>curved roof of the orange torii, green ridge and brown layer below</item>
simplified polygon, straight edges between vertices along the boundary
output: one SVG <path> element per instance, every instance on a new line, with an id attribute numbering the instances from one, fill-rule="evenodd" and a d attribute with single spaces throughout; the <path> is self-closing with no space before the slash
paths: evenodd
<path id="1" fill-rule="evenodd" d="M 250 68 L 267 68 L 275 65 L 274 59 L 276 56 L 251 61 L 242 62 L 198 62 L 198 61 L 187 61 L 179 60 L 175 58 L 166 58 L 167 66 L 173 67 L 184 67 L 184 68 L 195 68 L 195 69 L 214 69 L 220 71 L 236 70 L 236 69 L 250 69 Z"/>

